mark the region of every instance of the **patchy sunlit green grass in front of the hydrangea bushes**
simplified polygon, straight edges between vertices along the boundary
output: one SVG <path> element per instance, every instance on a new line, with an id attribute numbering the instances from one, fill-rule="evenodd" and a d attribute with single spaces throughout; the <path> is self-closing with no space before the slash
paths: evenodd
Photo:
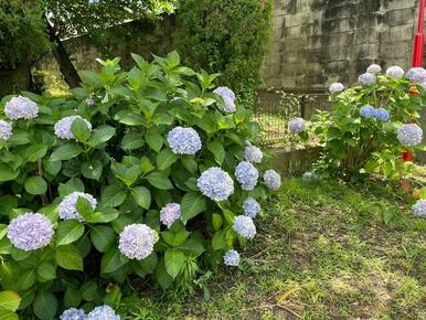
<path id="1" fill-rule="evenodd" d="M 128 319 L 426 319 L 426 222 L 391 191 L 288 180 L 209 301 L 147 291 Z"/>

